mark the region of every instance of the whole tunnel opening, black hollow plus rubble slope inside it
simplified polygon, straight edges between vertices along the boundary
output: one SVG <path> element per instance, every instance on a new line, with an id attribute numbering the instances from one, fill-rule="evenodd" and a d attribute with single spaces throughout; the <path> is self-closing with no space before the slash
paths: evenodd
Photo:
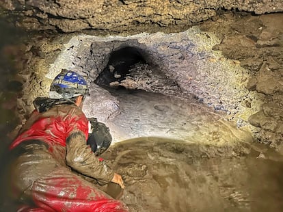
<path id="1" fill-rule="evenodd" d="M 161 61 L 145 49 L 122 46 L 109 53 L 109 61 L 94 83 L 116 95 L 116 91 L 160 93 L 184 97 L 178 83 L 168 76 Z M 185 94 L 192 98 L 191 95 Z M 187 97 L 186 97 L 187 98 Z"/>

